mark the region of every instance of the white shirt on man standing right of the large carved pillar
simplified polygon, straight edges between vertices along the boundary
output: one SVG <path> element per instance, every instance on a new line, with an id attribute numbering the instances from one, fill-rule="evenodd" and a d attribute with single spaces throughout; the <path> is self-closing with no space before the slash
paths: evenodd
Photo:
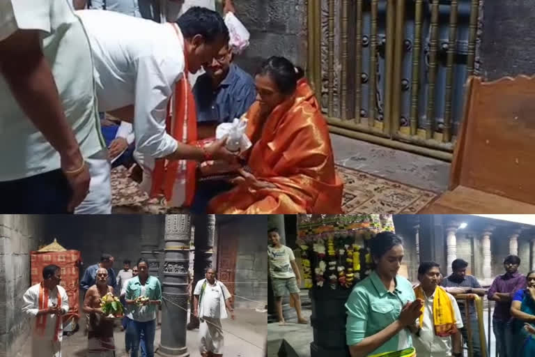
<path id="1" fill-rule="evenodd" d="M 206 281 L 206 288 L 204 289 L 203 296 L 201 298 L 201 289 L 203 283 Z M 215 319 L 226 318 L 226 305 L 225 301 L 231 298 L 231 293 L 226 289 L 226 286 L 219 281 L 215 281 L 215 284 L 210 284 L 208 280 L 202 279 L 195 285 L 194 295 L 198 295 L 201 301 L 199 301 L 199 316 L 200 317 L 213 317 Z"/>

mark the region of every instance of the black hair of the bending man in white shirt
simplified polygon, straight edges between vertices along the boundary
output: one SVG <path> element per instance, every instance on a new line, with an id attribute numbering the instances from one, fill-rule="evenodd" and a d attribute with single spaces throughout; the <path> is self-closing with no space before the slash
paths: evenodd
<path id="1" fill-rule="evenodd" d="M 222 36 L 225 43 L 228 43 L 228 28 L 223 17 L 208 8 L 194 6 L 189 8 L 182 16 L 178 17 L 176 24 L 185 38 L 191 39 L 196 35 L 201 35 L 207 43 L 215 42 Z"/>

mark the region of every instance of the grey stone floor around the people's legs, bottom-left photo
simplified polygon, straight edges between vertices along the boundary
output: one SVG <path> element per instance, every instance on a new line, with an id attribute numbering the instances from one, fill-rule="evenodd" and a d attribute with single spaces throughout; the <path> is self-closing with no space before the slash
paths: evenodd
<path id="1" fill-rule="evenodd" d="M 225 357 L 263 357 L 265 356 L 265 336 L 267 333 L 267 313 L 256 312 L 249 309 L 235 309 L 236 319 L 222 320 L 225 347 Z M 85 319 L 79 321 L 80 326 L 85 326 Z M 160 344 L 160 328 L 157 326 L 155 348 Z M 116 357 L 128 356 L 125 354 L 125 333 L 116 328 L 114 333 Z M 190 357 L 200 357 L 199 353 L 199 329 L 187 331 L 186 344 Z M 64 336 L 61 346 L 62 356 L 85 357 L 87 337 L 83 328 L 71 336 Z M 155 354 L 156 356 L 157 353 Z M 31 344 L 26 344 L 19 356 L 31 356 Z M 141 356 L 141 355 L 139 355 Z"/>

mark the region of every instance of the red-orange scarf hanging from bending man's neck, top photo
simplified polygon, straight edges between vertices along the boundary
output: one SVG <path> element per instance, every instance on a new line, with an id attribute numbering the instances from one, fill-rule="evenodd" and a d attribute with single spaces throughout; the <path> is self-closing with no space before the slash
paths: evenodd
<path id="1" fill-rule="evenodd" d="M 180 38 L 176 24 L 173 29 Z M 186 43 L 184 42 L 184 49 Z M 184 54 L 184 73 L 175 85 L 173 100 L 167 103 L 167 116 L 165 121 L 166 132 L 174 137 L 178 142 L 192 143 L 197 139 L 197 114 L 195 99 L 192 87 L 187 80 L 187 56 Z M 171 102 L 174 102 L 171 116 Z M 185 202 L 184 206 L 190 206 L 195 194 L 195 172 L 197 163 L 194 160 L 155 160 L 153 171 L 153 182 L 150 189 L 150 197 L 164 195 L 167 202 L 171 202 L 173 197 L 173 186 L 180 172 L 180 176 L 185 176 Z"/>

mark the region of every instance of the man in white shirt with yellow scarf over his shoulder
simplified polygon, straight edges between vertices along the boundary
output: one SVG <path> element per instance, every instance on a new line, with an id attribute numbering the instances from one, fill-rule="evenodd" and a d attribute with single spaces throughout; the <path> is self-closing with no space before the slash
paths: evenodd
<path id="1" fill-rule="evenodd" d="M 414 288 L 414 293 L 424 305 L 416 326 L 410 328 L 415 335 L 412 340 L 418 356 L 463 356 L 460 340 L 463 319 L 456 299 L 438 285 L 440 265 L 434 261 L 421 263 L 418 280 L 420 284 Z"/>

